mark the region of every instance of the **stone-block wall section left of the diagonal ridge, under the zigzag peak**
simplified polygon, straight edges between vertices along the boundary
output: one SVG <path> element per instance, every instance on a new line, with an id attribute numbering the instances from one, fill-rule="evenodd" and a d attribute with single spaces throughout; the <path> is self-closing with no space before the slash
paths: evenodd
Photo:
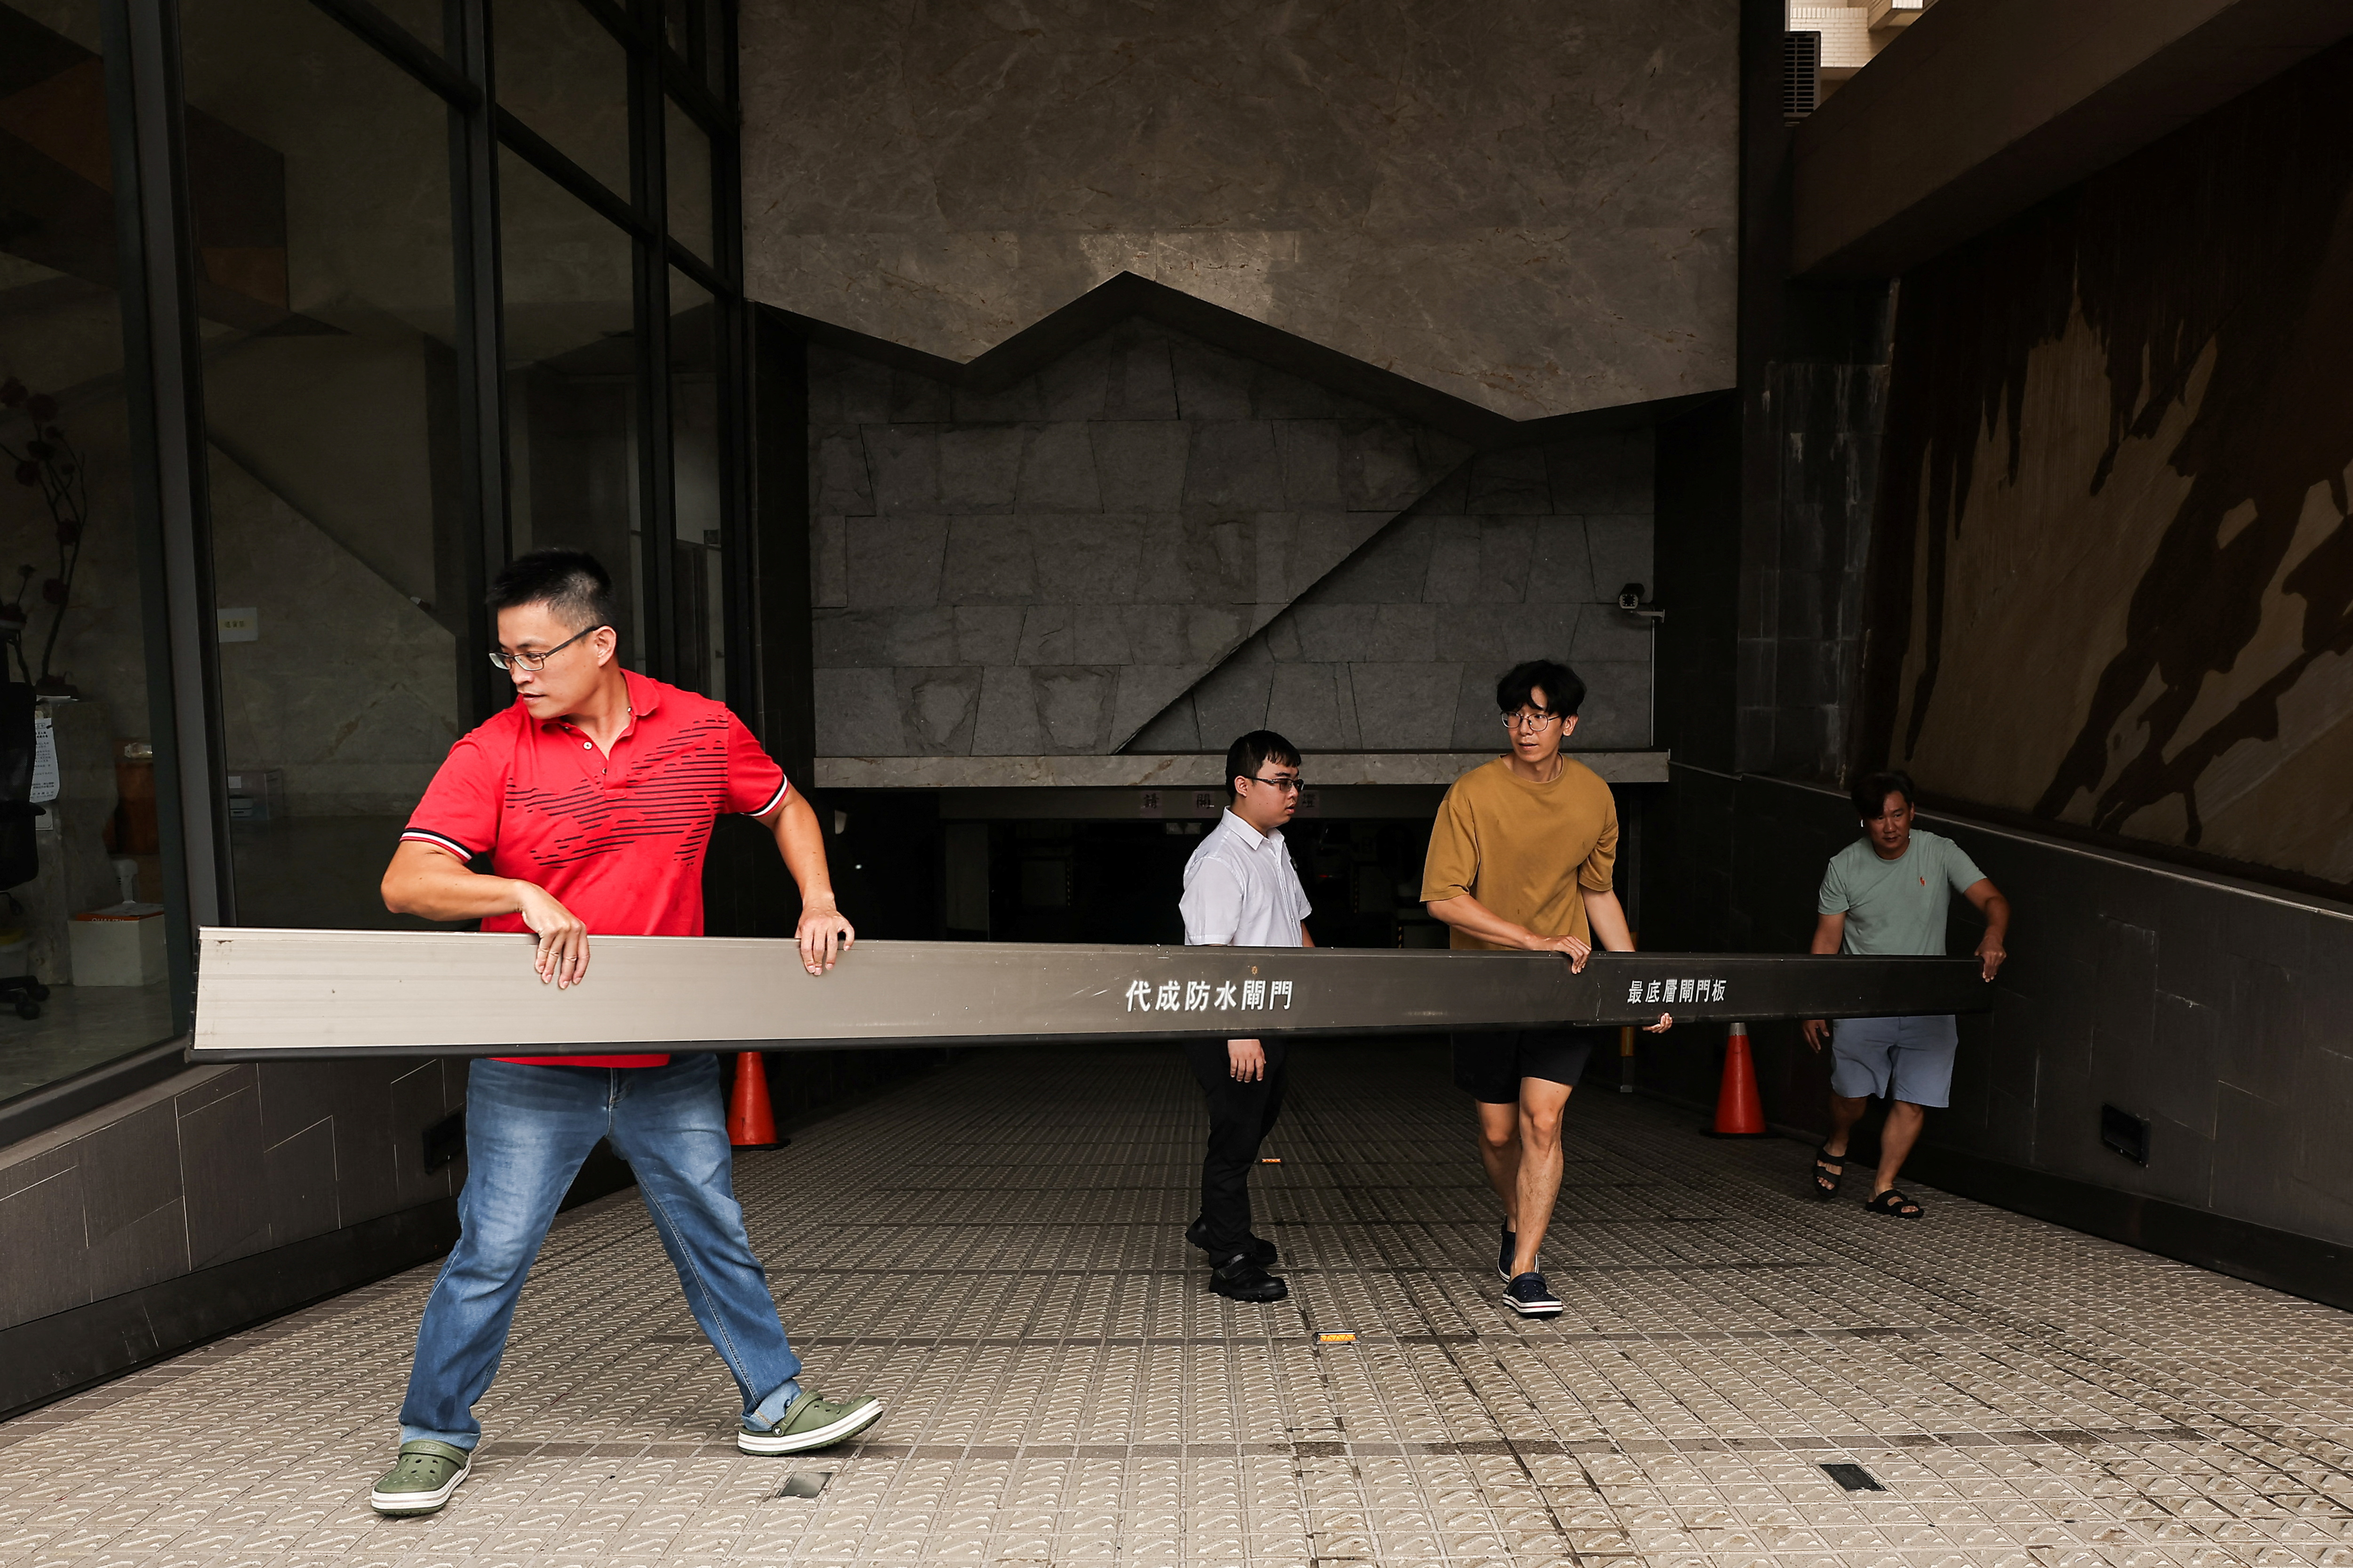
<path id="1" fill-rule="evenodd" d="M 809 381 L 824 755 L 1118 750 L 1468 456 L 1146 322 L 991 397 Z"/>

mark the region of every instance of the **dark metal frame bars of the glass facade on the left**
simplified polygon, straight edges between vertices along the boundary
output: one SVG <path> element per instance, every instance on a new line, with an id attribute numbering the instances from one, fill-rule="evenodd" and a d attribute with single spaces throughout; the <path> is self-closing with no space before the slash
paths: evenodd
<path id="1" fill-rule="evenodd" d="M 461 468 L 466 635 L 459 646 L 468 722 L 506 703 L 482 654 L 492 646 L 482 597 L 508 559 L 506 395 L 499 299 L 499 150 L 506 148 L 628 235 L 633 249 L 635 402 L 640 449 L 638 562 L 645 583 L 647 670 L 668 679 L 675 651 L 671 541 L 671 268 L 713 299 L 718 362 L 720 550 L 729 564 L 722 597 L 727 698 L 762 733 L 751 498 L 748 315 L 741 282 L 741 197 L 736 21 L 734 5 L 689 26 L 689 59 L 668 42 L 661 0 L 569 0 L 584 7 L 628 59 L 631 190 L 605 188 L 572 158 L 496 101 L 496 0 L 447 0 L 442 47 L 433 49 L 372 0 L 308 0 L 449 108 L 449 205 L 456 280 L 456 411 Z M 106 120 L 115 179 L 115 237 L 122 277 L 122 383 L 132 444 L 132 541 L 139 557 L 141 630 L 146 635 L 148 724 L 155 745 L 158 832 L 165 882 L 165 929 L 174 1034 L 195 1016 L 195 931 L 238 924 L 235 867 L 228 839 L 226 752 L 221 741 L 221 670 L 212 585 L 212 515 L 205 433 L 205 386 L 195 306 L 195 223 L 188 200 L 181 101 L 179 0 L 99 0 L 106 71 Z M 725 96 L 706 85 L 720 54 Z M 711 139 L 715 256 L 704 261 L 668 230 L 666 101 Z M 33 1091 L 9 1103 L 0 1140 L 87 1107 L 89 1091 L 122 1070 L 155 1070 L 158 1044 L 101 1063 L 73 1081 L 80 1093 Z M 129 1088 L 125 1079 L 125 1088 Z"/>

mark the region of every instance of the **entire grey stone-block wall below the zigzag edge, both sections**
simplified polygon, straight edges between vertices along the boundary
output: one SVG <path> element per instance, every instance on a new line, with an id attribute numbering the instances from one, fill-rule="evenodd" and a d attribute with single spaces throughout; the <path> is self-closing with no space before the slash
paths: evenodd
<path id="1" fill-rule="evenodd" d="M 1647 430 L 1468 451 L 1127 322 L 995 397 L 812 353 L 828 757 L 1442 750 L 1520 658 L 1645 745 Z"/>

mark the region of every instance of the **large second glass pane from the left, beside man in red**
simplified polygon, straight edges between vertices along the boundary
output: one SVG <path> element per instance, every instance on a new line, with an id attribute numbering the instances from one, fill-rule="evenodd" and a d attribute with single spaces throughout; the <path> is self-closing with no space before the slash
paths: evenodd
<path id="1" fill-rule="evenodd" d="M 449 113 L 308 0 L 181 0 L 181 52 L 242 153 L 191 172 L 247 242 L 198 282 L 238 922 L 381 926 L 466 708 Z"/>

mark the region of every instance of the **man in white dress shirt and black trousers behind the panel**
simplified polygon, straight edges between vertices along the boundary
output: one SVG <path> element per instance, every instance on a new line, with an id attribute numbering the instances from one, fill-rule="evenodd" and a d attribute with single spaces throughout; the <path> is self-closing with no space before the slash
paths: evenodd
<path id="1" fill-rule="evenodd" d="M 1226 748 L 1233 804 L 1184 867 L 1188 947 L 1313 947 L 1308 893 L 1282 846 L 1282 823 L 1299 809 L 1299 748 L 1254 729 Z M 1292 1293 L 1266 1272 L 1275 1244 L 1249 1234 L 1249 1168 L 1282 1112 L 1280 1039 L 1186 1041 L 1193 1077 L 1209 1095 L 1209 1150 L 1200 1161 L 1200 1218 L 1186 1241 L 1209 1253 L 1209 1288 L 1238 1302 Z"/>

